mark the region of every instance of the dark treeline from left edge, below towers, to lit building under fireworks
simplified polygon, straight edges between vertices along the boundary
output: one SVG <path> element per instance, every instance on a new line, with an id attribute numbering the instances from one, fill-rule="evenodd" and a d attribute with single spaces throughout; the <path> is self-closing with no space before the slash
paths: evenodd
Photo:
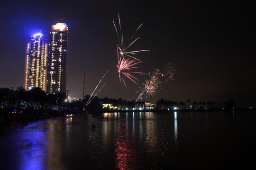
<path id="1" fill-rule="evenodd" d="M 0 110 L 12 111 L 13 109 L 26 110 L 58 110 L 58 111 L 82 111 L 90 96 L 85 95 L 84 100 L 73 100 L 67 102 L 67 96 L 64 93 L 46 94 L 40 88 L 25 90 L 22 86 L 17 89 L 0 88 Z M 135 100 L 126 100 L 122 98 L 99 98 L 95 97 L 86 109 L 102 109 L 102 103 L 110 103 L 120 109 L 134 107 Z"/>

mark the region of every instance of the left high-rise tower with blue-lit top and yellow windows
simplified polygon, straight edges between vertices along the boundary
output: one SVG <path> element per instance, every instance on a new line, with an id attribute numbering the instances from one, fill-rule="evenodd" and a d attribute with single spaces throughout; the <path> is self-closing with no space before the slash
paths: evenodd
<path id="1" fill-rule="evenodd" d="M 43 41 L 43 34 L 31 37 L 26 45 L 24 88 L 40 87 L 46 91 L 46 60 L 47 44 Z"/>

